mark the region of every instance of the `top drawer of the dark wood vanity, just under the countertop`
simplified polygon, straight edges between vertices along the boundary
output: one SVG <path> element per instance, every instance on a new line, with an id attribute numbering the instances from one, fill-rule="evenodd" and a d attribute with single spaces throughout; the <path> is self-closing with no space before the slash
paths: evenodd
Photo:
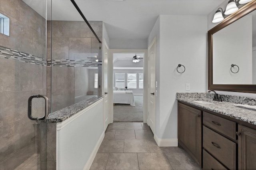
<path id="1" fill-rule="evenodd" d="M 234 140 L 236 140 L 236 123 L 212 115 L 207 112 L 203 112 L 203 124 L 210 127 Z"/>

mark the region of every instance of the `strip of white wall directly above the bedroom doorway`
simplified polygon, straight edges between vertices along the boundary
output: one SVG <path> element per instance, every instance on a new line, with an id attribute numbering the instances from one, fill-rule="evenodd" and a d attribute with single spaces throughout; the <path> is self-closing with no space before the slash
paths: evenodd
<path id="1" fill-rule="evenodd" d="M 147 49 L 147 39 L 110 39 L 110 49 Z"/>

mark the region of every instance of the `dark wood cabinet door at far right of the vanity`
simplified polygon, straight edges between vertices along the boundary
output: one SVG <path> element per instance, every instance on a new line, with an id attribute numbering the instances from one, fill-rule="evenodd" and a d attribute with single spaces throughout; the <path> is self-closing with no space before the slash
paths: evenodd
<path id="1" fill-rule="evenodd" d="M 238 125 L 238 169 L 256 168 L 256 130 Z"/>

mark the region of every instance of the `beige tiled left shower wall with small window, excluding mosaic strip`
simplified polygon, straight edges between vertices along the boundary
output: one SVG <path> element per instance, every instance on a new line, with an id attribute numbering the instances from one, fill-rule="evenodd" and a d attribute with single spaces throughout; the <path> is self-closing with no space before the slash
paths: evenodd
<path id="1" fill-rule="evenodd" d="M 46 20 L 22 0 L 0 0 L 0 13 L 10 18 L 10 36 L 0 45 L 46 58 Z M 40 152 L 38 125 L 27 117 L 28 97 L 46 95 L 46 66 L 0 58 L 0 169 L 14 169 Z M 33 114 L 44 114 L 44 101 L 33 100 Z"/>

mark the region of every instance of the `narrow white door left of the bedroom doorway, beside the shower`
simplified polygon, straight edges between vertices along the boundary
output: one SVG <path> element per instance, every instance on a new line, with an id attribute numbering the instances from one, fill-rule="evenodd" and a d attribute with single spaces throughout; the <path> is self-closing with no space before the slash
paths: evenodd
<path id="1" fill-rule="evenodd" d="M 109 124 L 109 119 L 110 119 L 110 107 L 109 107 L 109 79 L 108 79 L 108 74 L 109 74 L 109 63 L 108 63 L 108 57 L 109 57 L 109 48 L 108 45 L 106 43 L 106 41 L 104 41 L 104 47 L 103 47 L 103 54 L 104 54 L 104 130 L 106 130 L 106 128 L 108 127 Z"/>

